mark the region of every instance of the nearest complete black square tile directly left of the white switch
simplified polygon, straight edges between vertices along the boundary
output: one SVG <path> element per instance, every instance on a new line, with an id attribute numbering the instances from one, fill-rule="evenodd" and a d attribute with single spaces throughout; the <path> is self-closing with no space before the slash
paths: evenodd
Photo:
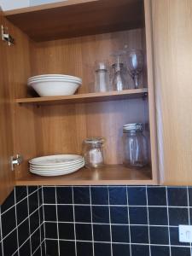
<path id="1" fill-rule="evenodd" d="M 169 233 L 168 227 L 151 227 L 149 226 L 150 232 L 150 243 L 151 244 L 169 244 Z"/>

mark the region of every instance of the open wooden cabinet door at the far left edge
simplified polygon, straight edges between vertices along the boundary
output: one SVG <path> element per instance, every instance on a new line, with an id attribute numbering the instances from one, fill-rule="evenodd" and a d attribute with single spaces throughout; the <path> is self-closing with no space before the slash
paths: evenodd
<path id="1" fill-rule="evenodd" d="M 3 13 L 0 9 L 0 24 L 4 25 Z M 13 134 L 11 96 L 8 75 L 9 46 L 0 40 L 0 204 L 15 186 L 15 172 L 11 171 L 10 157 L 13 155 Z"/>

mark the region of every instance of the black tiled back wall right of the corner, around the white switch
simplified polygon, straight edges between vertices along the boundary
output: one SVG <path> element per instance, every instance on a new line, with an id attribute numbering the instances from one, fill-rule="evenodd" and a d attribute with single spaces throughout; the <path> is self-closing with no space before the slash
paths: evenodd
<path id="1" fill-rule="evenodd" d="M 178 224 L 192 219 L 192 189 L 43 187 L 49 256 L 189 256 Z"/>

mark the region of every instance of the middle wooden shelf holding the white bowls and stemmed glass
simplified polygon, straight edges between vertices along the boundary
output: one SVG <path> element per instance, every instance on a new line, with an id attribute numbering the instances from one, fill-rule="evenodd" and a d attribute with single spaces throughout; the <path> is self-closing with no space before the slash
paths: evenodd
<path id="1" fill-rule="evenodd" d="M 128 98 L 139 98 L 146 96 L 148 93 L 147 88 L 122 90 L 122 91 L 107 91 L 107 92 L 94 92 L 75 94 L 72 96 L 49 96 L 49 97 L 35 97 L 35 98 L 22 98 L 17 99 L 17 103 L 25 104 L 69 104 L 69 103 L 86 103 L 86 102 L 108 102 L 125 100 Z"/>

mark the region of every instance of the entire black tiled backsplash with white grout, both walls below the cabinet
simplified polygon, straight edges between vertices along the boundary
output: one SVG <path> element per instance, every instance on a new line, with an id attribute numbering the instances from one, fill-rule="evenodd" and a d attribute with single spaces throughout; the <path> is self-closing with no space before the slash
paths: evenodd
<path id="1" fill-rule="evenodd" d="M 178 224 L 192 222 L 192 188 L 44 187 L 43 201 L 41 192 L 16 188 L 2 206 L 3 256 L 190 256 Z"/>

